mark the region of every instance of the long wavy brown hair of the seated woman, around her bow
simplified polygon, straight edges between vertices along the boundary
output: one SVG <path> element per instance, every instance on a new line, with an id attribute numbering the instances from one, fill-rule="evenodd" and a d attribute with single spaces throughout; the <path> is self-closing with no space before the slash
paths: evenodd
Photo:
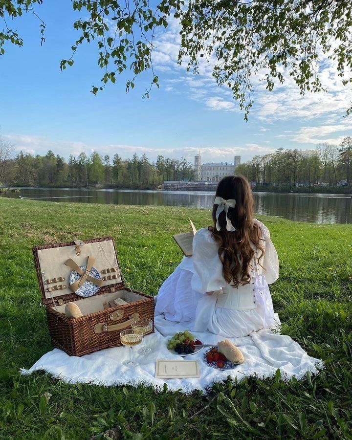
<path id="1" fill-rule="evenodd" d="M 227 217 L 236 231 L 226 230 L 226 215 L 219 215 L 220 231 L 216 228 L 216 211 L 213 206 L 214 226 L 209 226 L 213 239 L 219 243 L 219 258 L 222 263 L 222 275 L 232 286 L 238 287 L 250 282 L 250 261 L 254 256 L 253 245 L 264 255 L 263 237 L 260 227 L 253 221 L 253 196 L 248 180 L 242 176 L 227 176 L 220 180 L 215 197 L 225 200 L 234 198 L 236 205 L 229 208 Z"/>

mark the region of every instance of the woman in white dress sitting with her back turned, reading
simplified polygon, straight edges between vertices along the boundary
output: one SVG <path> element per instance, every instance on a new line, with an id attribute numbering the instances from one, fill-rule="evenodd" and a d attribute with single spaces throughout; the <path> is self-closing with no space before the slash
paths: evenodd
<path id="1" fill-rule="evenodd" d="M 268 228 L 253 218 L 244 177 L 219 182 L 213 221 L 194 236 L 193 256 L 184 257 L 161 286 L 155 314 L 226 337 L 280 325 L 268 287 L 278 279 L 278 256 Z"/>

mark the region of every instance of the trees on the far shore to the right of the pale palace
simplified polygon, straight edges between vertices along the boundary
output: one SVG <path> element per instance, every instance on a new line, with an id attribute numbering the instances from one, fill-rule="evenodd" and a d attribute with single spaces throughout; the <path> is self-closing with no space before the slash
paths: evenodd
<path id="1" fill-rule="evenodd" d="M 315 150 L 284 150 L 256 155 L 236 168 L 249 181 L 283 187 L 352 186 L 352 137 L 339 146 L 322 143 Z"/>

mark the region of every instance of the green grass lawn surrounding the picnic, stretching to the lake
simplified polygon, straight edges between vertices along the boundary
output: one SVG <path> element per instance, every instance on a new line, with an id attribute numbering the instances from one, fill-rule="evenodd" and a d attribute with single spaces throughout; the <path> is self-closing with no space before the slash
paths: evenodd
<path id="1" fill-rule="evenodd" d="M 19 374 L 52 349 L 32 246 L 112 235 L 127 284 L 155 295 L 181 260 L 171 234 L 188 230 L 187 217 L 210 223 L 204 210 L 0 199 L 0 438 L 86 439 L 118 427 L 126 439 L 352 439 L 351 225 L 261 218 L 280 258 L 271 292 L 283 332 L 325 361 L 318 376 L 228 380 L 185 396 Z"/>

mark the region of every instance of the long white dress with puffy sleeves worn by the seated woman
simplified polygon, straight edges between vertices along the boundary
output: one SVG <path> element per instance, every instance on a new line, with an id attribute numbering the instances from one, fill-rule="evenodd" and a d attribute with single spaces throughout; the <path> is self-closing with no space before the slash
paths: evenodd
<path id="1" fill-rule="evenodd" d="M 193 256 L 184 257 L 160 287 L 155 315 L 187 323 L 187 328 L 194 331 L 208 330 L 225 337 L 247 336 L 252 331 L 279 326 L 268 287 L 278 279 L 278 256 L 267 227 L 254 221 L 261 228 L 265 253 L 260 265 L 261 253 L 255 251 L 249 284 L 233 287 L 224 280 L 219 245 L 211 232 L 202 228 L 193 240 Z M 219 292 L 208 295 L 210 291 Z"/>

